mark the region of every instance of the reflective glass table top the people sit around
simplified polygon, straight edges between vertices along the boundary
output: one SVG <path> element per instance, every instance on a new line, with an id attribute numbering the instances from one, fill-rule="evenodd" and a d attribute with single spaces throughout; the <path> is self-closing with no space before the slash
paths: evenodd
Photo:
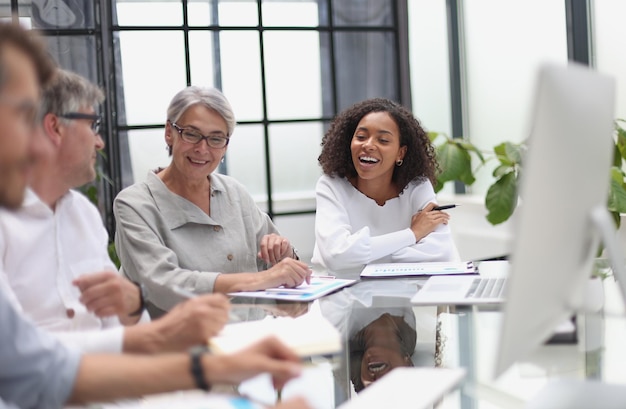
<path id="1" fill-rule="evenodd" d="M 606 307 L 576 316 L 575 342 L 545 344 L 495 380 L 501 311 L 412 306 L 410 298 L 424 281 L 361 280 L 309 303 L 235 297 L 233 312 L 240 320 L 321 314 L 341 332 L 341 357 L 318 359 L 282 391 L 284 398 L 306 396 L 315 408 L 340 406 L 402 366 L 466 368 L 465 380 L 437 408 L 521 408 L 554 379 L 626 382 L 626 371 L 615 364 L 623 362 L 618 340 L 624 339 L 626 321 L 611 280 L 605 280 Z M 268 379 L 253 379 L 238 391 L 267 404 L 276 401 Z M 419 385 L 407 391 L 408 398 L 413 394 Z"/>

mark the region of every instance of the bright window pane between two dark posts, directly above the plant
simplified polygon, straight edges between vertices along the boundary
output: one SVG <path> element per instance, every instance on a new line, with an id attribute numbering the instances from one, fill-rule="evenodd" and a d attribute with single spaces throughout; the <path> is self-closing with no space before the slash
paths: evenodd
<path id="1" fill-rule="evenodd" d="M 464 136 L 484 150 L 504 141 L 521 142 L 530 132 L 528 119 L 539 66 L 567 62 L 565 2 L 467 0 L 462 11 L 467 92 Z M 481 170 L 472 192 L 486 192 L 494 166 L 495 161 Z"/>

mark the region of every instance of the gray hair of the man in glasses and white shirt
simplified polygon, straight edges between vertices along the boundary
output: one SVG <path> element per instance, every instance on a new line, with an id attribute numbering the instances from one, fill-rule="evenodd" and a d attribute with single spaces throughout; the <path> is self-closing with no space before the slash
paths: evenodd
<path id="1" fill-rule="evenodd" d="M 63 115 L 84 107 L 95 107 L 104 101 L 102 90 L 88 79 L 71 71 L 58 69 L 43 89 L 41 115 Z"/>

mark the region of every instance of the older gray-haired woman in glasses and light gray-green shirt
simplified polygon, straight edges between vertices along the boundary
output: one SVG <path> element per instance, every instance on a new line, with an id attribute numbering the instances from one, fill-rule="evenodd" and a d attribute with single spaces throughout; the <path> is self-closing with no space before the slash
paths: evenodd
<path id="1" fill-rule="evenodd" d="M 122 271 L 144 284 L 153 318 L 180 301 L 175 286 L 229 293 L 309 280 L 309 267 L 243 185 L 215 172 L 234 127 L 220 91 L 183 89 L 167 110 L 171 163 L 115 199 Z"/>

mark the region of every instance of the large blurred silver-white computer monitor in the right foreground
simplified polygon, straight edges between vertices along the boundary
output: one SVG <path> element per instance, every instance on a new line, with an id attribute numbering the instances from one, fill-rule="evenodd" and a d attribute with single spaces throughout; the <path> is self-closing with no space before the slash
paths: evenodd
<path id="1" fill-rule="evenodd" d="M 618 251 L 606 210 L 614 89 L 612 78 L 578 64 L 539 70 L 496 376 L 579 310 L 600 236 Z"/>

